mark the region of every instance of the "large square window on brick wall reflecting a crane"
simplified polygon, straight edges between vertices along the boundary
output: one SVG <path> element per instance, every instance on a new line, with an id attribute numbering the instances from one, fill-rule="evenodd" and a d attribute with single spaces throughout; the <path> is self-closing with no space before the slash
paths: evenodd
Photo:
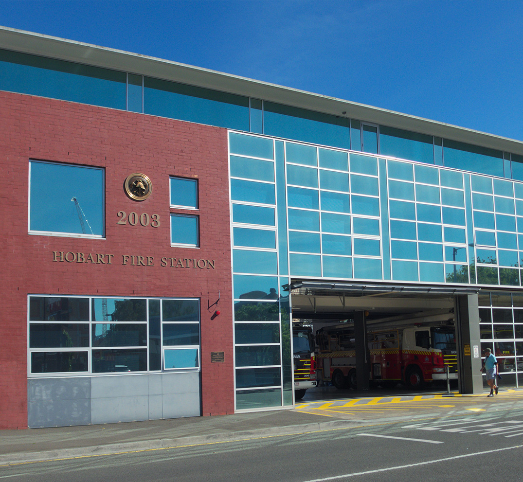
<path id="1" fill-rule="evenodd" d="M 29 231 L 104 235 L 104 169 L 35 160 L 29 165 Z"/>

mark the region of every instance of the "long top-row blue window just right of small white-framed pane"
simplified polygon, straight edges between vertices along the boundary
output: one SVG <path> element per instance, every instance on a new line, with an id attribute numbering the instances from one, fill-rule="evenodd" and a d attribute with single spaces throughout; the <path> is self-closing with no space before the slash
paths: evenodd
<path id="1" fill-rule="evenodd" d="M 380 125 L 380 153 L 434 164 L 433 137 Z"/>

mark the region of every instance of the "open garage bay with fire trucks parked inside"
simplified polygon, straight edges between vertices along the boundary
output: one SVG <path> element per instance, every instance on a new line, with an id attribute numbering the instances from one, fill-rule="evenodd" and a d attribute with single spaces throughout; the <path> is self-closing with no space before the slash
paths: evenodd
<path id="1" fill-rule="evenodd" d="M 289 292 L 296 400 L 459 389 L 456 297 L 475 291 L 295 280 Z"/>

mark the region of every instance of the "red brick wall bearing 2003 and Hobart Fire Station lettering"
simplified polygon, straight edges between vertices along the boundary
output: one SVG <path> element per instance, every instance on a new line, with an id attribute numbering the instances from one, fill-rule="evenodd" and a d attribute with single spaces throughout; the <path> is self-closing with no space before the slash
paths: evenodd
<path id="1" fill-rule="evenodd" d="M 0 92 L 0 428 L 27 427 L 27 295 L 199 297 L 203 415 L 232 413 L 233 345 L 229 181 L 226 130 Z M 28 235 L 29 159 L 105 167 L 106 237 Z M 141 202 L 123 191 L 129 174 L 152 181 Z M 169 176 L 197 177 L 200 248 L 170 246 Z M 52 196 L 52 179 L 49 195 Z M 157 213 L 157 228 L 118 225 L 119 211 Z M 53 261 L 53 251 L 112 254 L 111 265 Z M 122 264 L 152 256 L 154 266 Z M 71 255 L 70 255 L 71 257 Z M 161 266 L 162 257 L 214 260 L 214 269 Z M 184 265 L 187 262 L 184 261 Z M 220 316 L 211 319 L 218 299 Z M 211 352 L 225 352 L 211 363 Z"/>

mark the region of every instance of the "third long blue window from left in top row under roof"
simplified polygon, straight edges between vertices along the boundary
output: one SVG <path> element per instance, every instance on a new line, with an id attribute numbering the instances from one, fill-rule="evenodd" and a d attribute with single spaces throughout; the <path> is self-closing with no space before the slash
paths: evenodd
<path id="1" fill-rule="evenodd" d="M 267 101 L 264 102 L 264 133 L 350 149 L 348 119 Z"/>

